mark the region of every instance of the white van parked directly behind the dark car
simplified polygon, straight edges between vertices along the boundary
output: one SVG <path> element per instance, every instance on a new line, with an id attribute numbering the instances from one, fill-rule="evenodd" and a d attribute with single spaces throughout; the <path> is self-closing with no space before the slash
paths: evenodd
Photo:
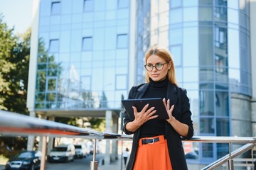
<path id="1" fill-rule="evenodd" d="M 50 154 L 48 154 L 48 162 L 69 162 L 73 161 L 75 157 L 74 145 L 58 145 L 54 147 Z"/>

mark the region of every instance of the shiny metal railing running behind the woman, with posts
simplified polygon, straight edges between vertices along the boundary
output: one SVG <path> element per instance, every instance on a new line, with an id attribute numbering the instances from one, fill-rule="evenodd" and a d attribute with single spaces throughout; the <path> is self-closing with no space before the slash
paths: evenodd
<path id="1" fill-rule="evenodd" d="M 46 137 L 79 137 L 85 139 L 92 139 L 95 142 L 92 162 L 90 164 L 91 170 L 97 169 L 97 162 L 95 161 L 96 142 L 97 140 L 132 140 L 130 135 L 120 135 L 117 133 L 97 132 L 95 130 L 88 130 L 85 128 L 78 128 L 72 125 L 65 125 L 63 123 L 56 123 L 50 120 L 43 120 L 33 118 L 28 115 L 21 115 L 18 113 L 11 113 L 0 111 L 0 135 L 36 135 L 42 136 L 42 158 L 46 158 Z M 215 169 L 216 167 L 228 162 L 228 169 L 233 170 L 233 158 L 247 152 L 256 146 L 255 137 L 209 137 L 209 136 L 195 136 L 190 142 L 208 142 L 208 143 L 228 143 L 229 154 L 225 157 L 204 167 L 204 169 Z M 232 144 L 245 144 L 242 147 L 231 151 Z M 41 159 L 41 170 L 45 169 L 46 159 Z"/>

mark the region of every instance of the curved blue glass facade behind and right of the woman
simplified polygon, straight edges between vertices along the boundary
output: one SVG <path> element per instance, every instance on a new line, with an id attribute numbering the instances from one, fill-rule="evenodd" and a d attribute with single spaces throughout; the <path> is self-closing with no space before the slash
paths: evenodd
<path id="1" fill-rule="evenodd" d="M 137 6 L 138 81 L 147 47 L 169 47 L 176 79 L 191 101 L 195 135 L 230 136 L 230 94 L 252 94 L 247 2 L 138 1 Z M 228 145 L 193 143 L 193 150 L 198 162 L 213 162 L 228 154 Z"/>

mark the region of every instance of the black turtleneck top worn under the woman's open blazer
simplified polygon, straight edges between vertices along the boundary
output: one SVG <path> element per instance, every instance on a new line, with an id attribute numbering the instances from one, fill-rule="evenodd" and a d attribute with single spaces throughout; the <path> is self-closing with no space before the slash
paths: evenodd
<path id="1" fill-rule="evenodd" d="M 168 79 L 162 81 L 153 81 L 149 79 L 149 89 L 142 98 L 166 98 Z M 165 121 L 157 118 L 148 120 L 141 127 L 140 137 L 153 137 L 158 135 L 165 135 Z"/>

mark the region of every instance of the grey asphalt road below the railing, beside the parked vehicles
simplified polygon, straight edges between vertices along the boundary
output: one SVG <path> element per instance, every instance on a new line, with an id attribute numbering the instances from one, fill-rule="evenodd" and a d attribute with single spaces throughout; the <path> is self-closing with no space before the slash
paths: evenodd
<path id="1" fill-rule="evenodd" d="M 97 154 L 96 161 L 99 166 L 102 165 L 104 154 Z M 60 162 L 60 163 L 48 163 L 46 162 L 46 170 L 89 170 L 90 162 L 92 161 L 92 155 L 82 159 L 74 159 L 73 162 Z"/>

